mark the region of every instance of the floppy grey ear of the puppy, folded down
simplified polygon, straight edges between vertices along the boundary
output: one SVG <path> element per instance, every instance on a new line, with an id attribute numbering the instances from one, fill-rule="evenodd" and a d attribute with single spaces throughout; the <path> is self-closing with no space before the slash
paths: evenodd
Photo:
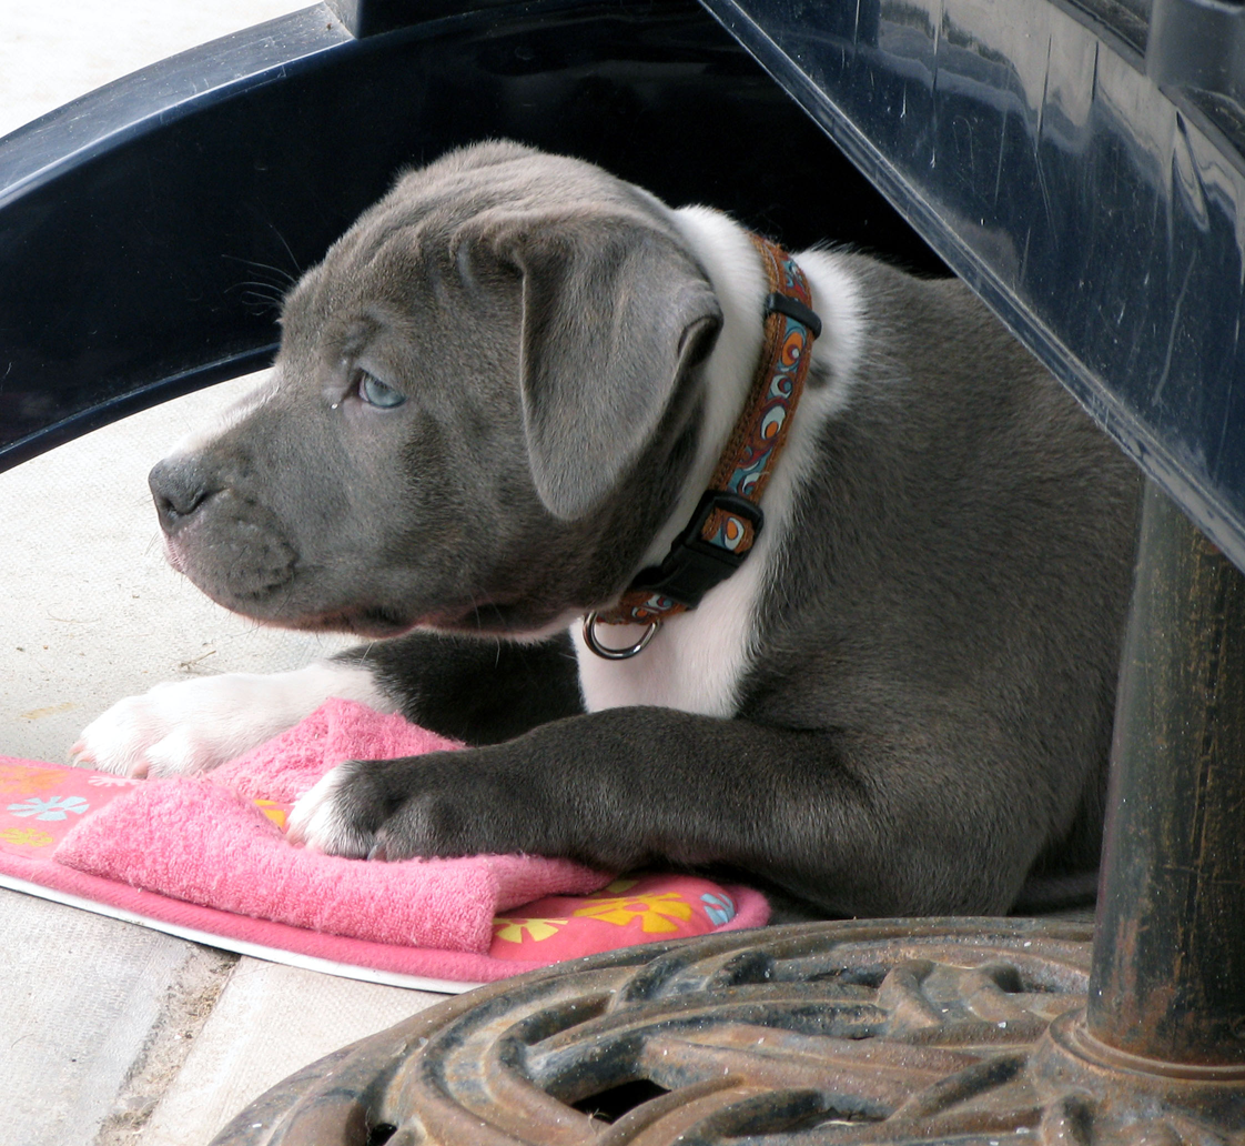
<path id="1" fill-rule="evenodd" d="M 489 229 L 498 258 L 523 277 L 520 385 L 537 492 L 574 519 L 650 441 L 722 310 L 684 248 L 639 213 L 518 215 Z"/>

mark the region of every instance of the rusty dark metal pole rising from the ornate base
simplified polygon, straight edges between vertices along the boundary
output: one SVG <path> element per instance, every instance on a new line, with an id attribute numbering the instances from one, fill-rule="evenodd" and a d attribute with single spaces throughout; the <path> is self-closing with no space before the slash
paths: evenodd
<path id="1" fill-rule="evenodd" d="M 1245 575 L 1153 483 L 1107 806 L 1091 1034 L 1245 1064 Z"/>

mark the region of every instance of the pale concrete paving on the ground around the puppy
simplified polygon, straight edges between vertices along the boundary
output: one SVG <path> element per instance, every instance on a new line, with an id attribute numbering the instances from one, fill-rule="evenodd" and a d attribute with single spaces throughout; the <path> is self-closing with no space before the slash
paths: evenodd
<path id="1" fill-rule="evenodd" d="M 301 6 L 7 5 L 0 135 Z M 62 761 L 92 716 L 159 680 L 298 668 L 332 650 L 229 615 L 163 562 L 147 470 L 251 385 L 169 402 L 0 473 L 0 754 Z M 238 958 L 2 889 L 0 968 L 0 1146 L 203 1146 L 298 1068 L 439 998 Z"/>

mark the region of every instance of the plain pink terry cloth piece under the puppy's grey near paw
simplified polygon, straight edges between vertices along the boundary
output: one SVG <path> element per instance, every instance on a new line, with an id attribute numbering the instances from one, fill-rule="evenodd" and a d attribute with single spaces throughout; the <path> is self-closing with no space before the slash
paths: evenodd
<path id="1" fill-rule="evenodd" d="M 352 701 L 204 777 L 148 780 L 76 825 L 52 858 L 189 903 L 356 939 L 487 952 L 499 911 L 593 892 L 611 876 L 568 860 L 469 856 L 375 863 L 293 847 L 281 808 L 341 760 L 458 747 Z M 274 822 L 274 818 L 279 822 Z"/>

